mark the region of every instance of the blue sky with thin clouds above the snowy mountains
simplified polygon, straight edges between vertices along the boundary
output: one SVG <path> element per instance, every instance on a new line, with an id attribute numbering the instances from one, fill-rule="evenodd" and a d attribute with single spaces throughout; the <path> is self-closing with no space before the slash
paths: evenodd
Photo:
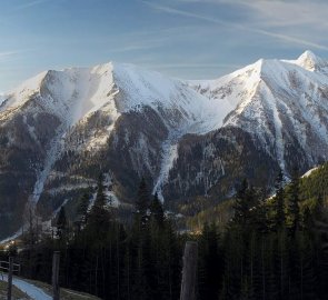
<path id="1" fill-rule="evenodd" d="M 109 61 L 211 79 L 305 50 L 328 58 L 326 0 L 0 0 L 0 92 Z"/>

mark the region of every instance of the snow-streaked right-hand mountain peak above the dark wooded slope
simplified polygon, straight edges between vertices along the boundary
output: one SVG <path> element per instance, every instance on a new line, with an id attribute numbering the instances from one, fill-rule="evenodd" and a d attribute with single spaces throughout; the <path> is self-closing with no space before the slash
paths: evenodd
<path id="1" fill-rule="evenodd" d="M 190 82 L 223 103 L 223 127 L 239 127 L 286 169 L 288 143 L 297 143 L 315 164 L 327 159 L 328 62 L 306 51 L 297 60 L 259 60 L 211 81 Z"/>

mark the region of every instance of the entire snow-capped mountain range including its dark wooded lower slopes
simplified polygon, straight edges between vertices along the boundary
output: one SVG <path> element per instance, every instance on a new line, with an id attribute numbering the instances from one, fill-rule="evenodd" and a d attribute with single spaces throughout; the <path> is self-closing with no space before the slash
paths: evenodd
<path id="1" fill-rule="evenodd" d="M 328 62 L 259 60 L 217 80 L 181 81 L 135 66 L 47 71 L 0 106 L 0 234 L 26 206 L 49 218 L 108 178 L 117 206 L 140 178 L 167 203 L 229 197 L 247 176 L 327 160 Z M 91 201 L 91 200 L 90 200 Z"/>

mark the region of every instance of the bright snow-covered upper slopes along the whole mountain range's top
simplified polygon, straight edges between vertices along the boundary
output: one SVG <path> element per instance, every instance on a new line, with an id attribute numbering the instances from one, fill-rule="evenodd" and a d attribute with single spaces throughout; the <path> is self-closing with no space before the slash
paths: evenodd
<path id="1" fill-rule="evenodd" d="M 294 61 L 261 59 L 217 80 L 190 82 L 131 64 L 106 63 L 42 72 L 10 92 L 1 111 L 22 107 L 37 97 L 36 104 L 72 127 L 100 109 L 116 120 L 120 113 L 149 106 L 181 112 L 182 120 L 167 120 L 169 127 L 206 133 L 233 122 L 231 118 L 223 119 L 233 110 L 236 114 L 246 111 L 256 102 L 261 86 L 295 97 L 308 88 L 316 91 L 326 87 L 326 70 L 328 62 L 310 51 Z M 115 101 L 117 93 L 123 96 L 119 102 Z M 311 100 L 318 103 L 321 99 Z"/>

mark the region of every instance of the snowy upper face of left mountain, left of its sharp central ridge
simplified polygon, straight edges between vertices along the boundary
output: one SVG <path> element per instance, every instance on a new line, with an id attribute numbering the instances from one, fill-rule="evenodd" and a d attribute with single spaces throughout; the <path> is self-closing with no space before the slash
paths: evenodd
<path id="1" fill-rule="evenodd" d="M 34 100 L 36 106 L 52 112 L 67 126 L 73 126 L 112 99 L 111 69 L 112 66 L 108 63 L 42 72 L 10 92 L 1 110 L 22 107 Z"/>

